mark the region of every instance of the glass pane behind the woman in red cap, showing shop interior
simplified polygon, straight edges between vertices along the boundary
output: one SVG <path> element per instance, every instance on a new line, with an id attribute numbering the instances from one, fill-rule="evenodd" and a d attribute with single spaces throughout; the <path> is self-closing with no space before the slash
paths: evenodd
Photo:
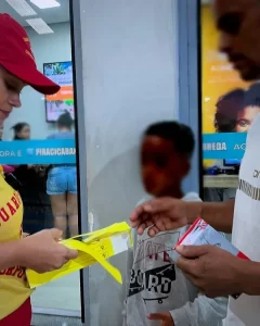
<path id="1" fill-rule="evenodd" d="M 23 199 L 24 233 L 57 227 L 66 238 L 78 234 L 77 121 L 69 1 L 53 2 L 58 5 L 46 9 L 41 5 L 47 1 L 0 3 L 1 13 L 9 13 L 25 27 L 38 70 L 62 87 L 54 96 L 24 88 L 21 108 L 14 109 L 2 125 L 0 164 L 4 165 L 5 180 Z M 35 325 L 46 325 L 47 321 L 61 325 L 69 321 L 66 316 L 74 317 L 69 323 L 77 325 L 81 316 L 79 274 L 38 287 L 31 301 Z"/>

